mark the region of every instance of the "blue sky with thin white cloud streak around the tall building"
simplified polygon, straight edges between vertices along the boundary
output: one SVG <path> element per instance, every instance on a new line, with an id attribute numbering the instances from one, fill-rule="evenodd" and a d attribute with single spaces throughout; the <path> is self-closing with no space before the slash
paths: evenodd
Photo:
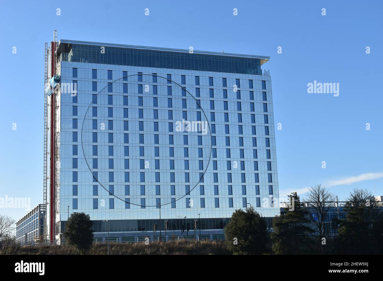
<path id="1" fill-rule="evenodd" d="M 0 197 L 43 201 L 44 42 L 53 29 L 58 39 L 270 56 L 280 195 L 322 184 L 343 199 L 353 188 L 375 193 L 374 183 L 383 195 L 381 1 L 36 3 L 0 10 Z M 314 80 L 339 83 L 339 96 L 309 94 Z"/>

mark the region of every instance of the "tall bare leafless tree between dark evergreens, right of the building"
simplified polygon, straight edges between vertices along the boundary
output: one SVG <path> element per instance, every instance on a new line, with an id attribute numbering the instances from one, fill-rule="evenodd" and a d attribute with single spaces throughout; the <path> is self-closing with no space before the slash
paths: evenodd
<path id="1" fill-rule="evenodd" d="M 327 214 L 334 207 L 335 196 L 329 192 L 326 187 L 322 187 L 320 184 L 314 187 L 309 187 L 308 193 L 304 201 L 307 203 L 309 211 L 311 212 L 311 221 L 318 229 L 319 239 L 326 238 L 327 234 Z M 313 216 L 315 215 L 315 216 Z M 324 245 L 321 241 L 321 252 L 324 253 Z"/>

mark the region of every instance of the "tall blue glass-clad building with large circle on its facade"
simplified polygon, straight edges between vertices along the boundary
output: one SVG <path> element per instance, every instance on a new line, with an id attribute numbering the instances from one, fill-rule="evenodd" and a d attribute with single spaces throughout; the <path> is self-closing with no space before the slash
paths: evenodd
<path id="1" fill-rule="evenodd" d="M 220 239 L 236 209 L 279 214 L 269 57 L 68 40 L 57 56 L 57 238 L 73 212 L 122 242 L 160 216 L 167 239 L 194 221 Z"/>

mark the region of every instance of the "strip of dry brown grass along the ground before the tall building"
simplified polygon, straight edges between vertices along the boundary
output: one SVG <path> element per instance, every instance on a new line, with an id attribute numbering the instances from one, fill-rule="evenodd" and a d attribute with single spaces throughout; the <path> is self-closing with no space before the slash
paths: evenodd
<path id="1" fill-rule="evenodd" d="M 93 244 L 89 255 L 106 255 L 107 244 Z M 13 245 L 0 249 L 1 255 L 80 255 L 81 251 L 69 245 L 53 246 L 18 246 Z M 169 241 L 142 243 L 110 244 L 111 255 L 229 255 L 231 254 L 223 241 Z"/>

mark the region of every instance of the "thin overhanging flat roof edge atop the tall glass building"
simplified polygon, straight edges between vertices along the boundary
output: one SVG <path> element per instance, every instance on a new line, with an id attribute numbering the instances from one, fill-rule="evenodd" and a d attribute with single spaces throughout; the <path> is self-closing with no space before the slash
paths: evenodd
<path id="1" fill-rule="evenodd" d="M 185 49 L 171 49 L 171 48 L 159 48 L 159 47 L 147 47 L 147 46 L 138 46 L 138 45 L 123 45 L 123 44 L 110 44 L 110 43 L 100 43 L 100 42 L 87 42 L 87 41 L 77 41 L 77 40 L 65 40 L 61 39 L 59 44 L 79 44 L 79 45 L 97 45 L 105 47 L 116 47 L 116 48 L 129 48 L 129 49 L 141 49 L 141 50 L 154 50 L 154 51 L 164 51 L 164 52 L 180 52 L 188 53 L 189 50 Z M 193 50 L 193 54 L 201 55 L 221 55 L 226 57 L 241 57 L 241 58 L 257 58 L 261 61 L 261 65 L 270 60 L 270 57 L 259 56 L 259 55 L 244 55 L 244 54 L 231 54 L 231 53 L 219 53 L 219 52 L 208 52 L 208 51 L 198 51 Z"/>

